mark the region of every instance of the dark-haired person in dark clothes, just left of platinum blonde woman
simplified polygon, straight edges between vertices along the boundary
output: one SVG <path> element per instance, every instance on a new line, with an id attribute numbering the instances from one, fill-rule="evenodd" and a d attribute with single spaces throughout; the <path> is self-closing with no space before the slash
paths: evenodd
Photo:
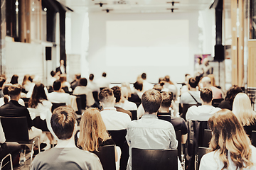
<path id="1" fill-rule="evenodd" d="M 227 95 L 225 96 L 225 100 L 221 101 L 219 104 L 219 108 L 227 108 L 228 110 L 232 111 L 233 108 L 233 101 L 237 94 L 242 93 L 242 89 L 239 86 L 232 86 L 227 91 Z"/>

